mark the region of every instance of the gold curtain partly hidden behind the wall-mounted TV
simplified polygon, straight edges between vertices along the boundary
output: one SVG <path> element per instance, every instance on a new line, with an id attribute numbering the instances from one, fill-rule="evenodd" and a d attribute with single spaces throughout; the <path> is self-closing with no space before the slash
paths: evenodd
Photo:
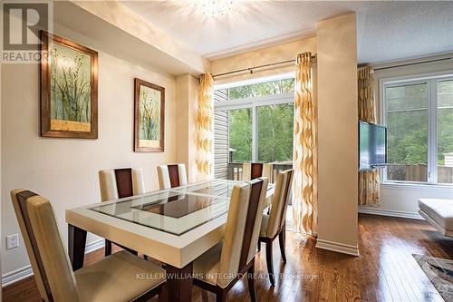
<path id="1" fill-rule="evenodd" d="M 373 71 L 370 66 L 357 69 L 359 120 L 376 122 Z M 376 206 L 380 202 L 379 170 L 359 172 L 359 205 Z"/>

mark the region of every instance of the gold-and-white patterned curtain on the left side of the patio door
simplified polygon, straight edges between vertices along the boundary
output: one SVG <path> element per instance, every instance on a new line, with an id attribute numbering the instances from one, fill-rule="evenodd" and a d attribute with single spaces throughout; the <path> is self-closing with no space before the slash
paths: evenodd
<path id="1" fill-rule="evenodd" d="M 196 163 L 197 180 L 208 180 L 214 172 L 214 79 L 201 74 L 198 86 Z"/>

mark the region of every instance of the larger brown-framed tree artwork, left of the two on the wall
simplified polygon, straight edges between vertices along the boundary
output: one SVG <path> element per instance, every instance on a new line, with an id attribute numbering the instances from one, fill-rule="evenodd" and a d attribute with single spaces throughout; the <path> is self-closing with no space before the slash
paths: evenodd
<path id="1" fill-rule="evenodd" d="M 98 138 L 98 53 L 40 32 L 41 136 Z"/>

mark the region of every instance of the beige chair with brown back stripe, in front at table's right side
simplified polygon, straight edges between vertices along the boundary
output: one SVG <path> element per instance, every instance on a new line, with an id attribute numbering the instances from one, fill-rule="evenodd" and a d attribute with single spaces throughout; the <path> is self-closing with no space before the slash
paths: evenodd
<path id="1" fill-rule="evenodd" d="M 226 293 L 247 273 L 252 301 L 255 297 L 256 244 L 265 208 L 267 179 L 251 180 L 233 188 L 223 242 L 194 261 L 194 285 L 216 293 L 226 301 Z"/>

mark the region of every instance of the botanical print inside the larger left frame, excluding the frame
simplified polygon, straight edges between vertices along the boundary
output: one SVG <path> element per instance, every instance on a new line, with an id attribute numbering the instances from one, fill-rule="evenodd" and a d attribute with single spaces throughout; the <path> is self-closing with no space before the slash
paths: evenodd
<path id="1" fill-rule="evenodd" d="M 92 57 L 49 42 L 51 130 L 91 132 Z"/>

